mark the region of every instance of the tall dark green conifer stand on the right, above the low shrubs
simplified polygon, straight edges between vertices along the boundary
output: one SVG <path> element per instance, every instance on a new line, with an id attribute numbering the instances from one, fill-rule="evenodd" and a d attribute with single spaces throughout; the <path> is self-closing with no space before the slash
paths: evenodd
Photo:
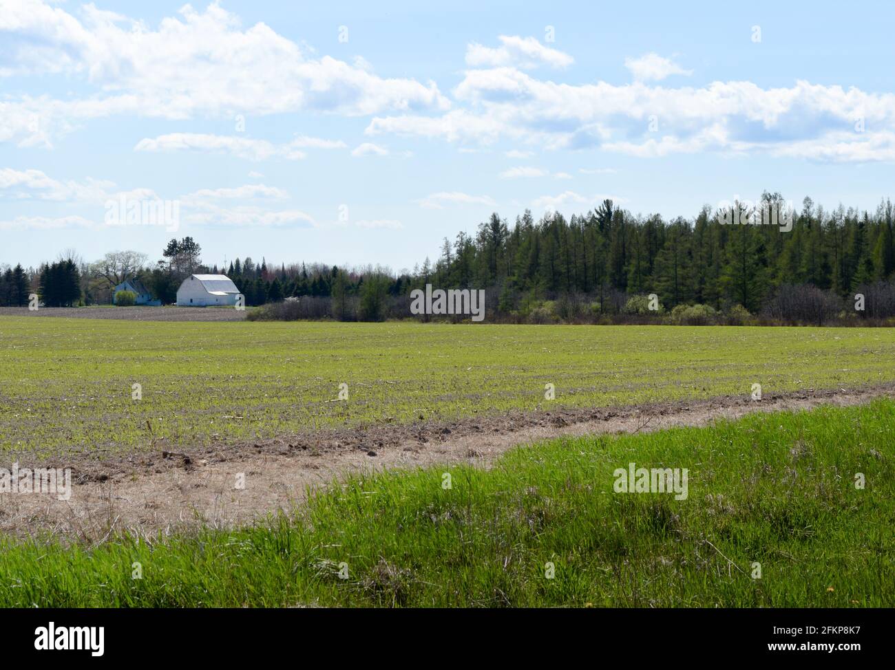
<path id="1" fill-rule="evenodd" d="M 779 194 L 763 201 L 782 204 Z M 895 271 L 891 201 L 874 215 L 855 209 L 825 212 L 805 198 L 780 225 L 724 225 L 704 208 L 694 220 L 633 216 L 605 200 L 566 219 L 534 221 L 530 212 L 507 225 L 497 214 L 477 233 L 445 240 L 422 278 L 437 284 L 498 286 L 501 311 L 562 294 L 592 295 L 603 312 L 618 308 L 607 295 L 656 293 L 666 309 L 738 304 L 763 309 L 783 284 L 810 284 L 841 297 L 858 286 L 888 281 Z"/>

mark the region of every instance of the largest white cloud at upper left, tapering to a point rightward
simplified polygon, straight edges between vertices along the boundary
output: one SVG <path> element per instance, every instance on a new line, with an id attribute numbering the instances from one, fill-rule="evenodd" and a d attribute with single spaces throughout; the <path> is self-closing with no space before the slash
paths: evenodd
<path id="1" fill-rule="evenodd" d="M 152 29 L 90 4 L 79 19 L 40 0 L 4 0 L 0 33 L 9 66 L 3 73 L 63 75 L 94 93 L 7 99 L 0 140 L 48 144 L 73 123 L 111 114 L 244 114 L 251 124 L 252 117 L 304 110 L 356 116 L 449 106 L 434 82 L 383 78 L 367 64 L 313 57 L 264 23 L 243 28 L 218 4 L 204 12 L 186 4 L 179 14 Z"/>

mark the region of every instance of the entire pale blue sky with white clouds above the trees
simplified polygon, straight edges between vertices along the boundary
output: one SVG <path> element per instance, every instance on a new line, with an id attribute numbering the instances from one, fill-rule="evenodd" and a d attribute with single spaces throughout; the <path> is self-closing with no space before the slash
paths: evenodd
<path id="1" fill-rule="evenodd" d="M 0 0 L 0 265 L 399 270 L 492 211 L 892 195 L 885 3 L 375 5 Z"/>

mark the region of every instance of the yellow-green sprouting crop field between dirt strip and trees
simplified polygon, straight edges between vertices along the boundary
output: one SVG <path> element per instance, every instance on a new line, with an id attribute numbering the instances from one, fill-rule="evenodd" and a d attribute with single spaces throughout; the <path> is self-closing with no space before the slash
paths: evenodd
<path id="1" fill-rule="evenodd" d="M 0 318 L 0 451 L 237 443 L 895 378 L 895 329 Z M 338 385 L 349 389 L 347 402 Z M 544 400 L 544 385 L 556 400 Z M 132 385 L 142 400 L 132 400 Z M 149 424 L 148 424 L 149 421 Z"/>

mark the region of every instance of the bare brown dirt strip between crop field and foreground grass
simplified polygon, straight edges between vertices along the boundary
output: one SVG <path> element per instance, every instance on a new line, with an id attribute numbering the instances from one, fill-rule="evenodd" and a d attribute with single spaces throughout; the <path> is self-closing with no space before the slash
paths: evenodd
<path id="1" fill-rule="evenodd" d="M 456 462 L 487 466 L 509 448 L 550 437 L 703 426 L 749 411 L 850 405 L 880 396 L 895 397 L 895 384 L 765 396 L 760 403 L 724 397 L 618 409 L 514 413 L 450 425 L 379 426 L 187 454 L 168 454 L 160 445 L 149 454 L 104 460 L 82 456 L 39 463 L 72 468 L 70 500 L 35 494 L 0 497 L 0 532 L 96 542 L 123 530 L 151 539 L 159 530 L 183 530 L 203 523 L 229 527 L 300 505 L 306 488 L 327 486 L 349 472 Z M 33 464 L 38 463 L 21 457 L 21 467 Z M 235 488 L 240 473 L 245 479 L 243 489 Z"/>

